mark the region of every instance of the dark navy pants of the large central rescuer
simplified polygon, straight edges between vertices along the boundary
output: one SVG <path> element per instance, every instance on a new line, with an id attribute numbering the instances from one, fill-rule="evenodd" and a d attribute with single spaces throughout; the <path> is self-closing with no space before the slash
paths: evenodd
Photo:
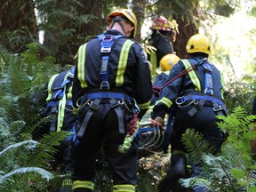
<path id="1" fill-rule="evenodd" d="M 123 111 L 125 134 L 119 132 L 116 112 L 110 107 L 108 99 L 101 100 L 99 108 L 95 110 L 87 124 L 83 138 L 79 139 L 80 143 L 72 151 L 75 159 L 72 180 L 94 181 L 96 159 L 103 148 L 112 168 L 113 184 L 136 185 L 137 143 L 132 143 L 127 153 L 118 151 L 118 146 L 123 144 L 133 114 L 131 108 L 127 106 L 122 105 L 118 108 L 122 108 Z M 79 109 L 77 129 L 89 110 L 91 108 L 88 105 Z"/>

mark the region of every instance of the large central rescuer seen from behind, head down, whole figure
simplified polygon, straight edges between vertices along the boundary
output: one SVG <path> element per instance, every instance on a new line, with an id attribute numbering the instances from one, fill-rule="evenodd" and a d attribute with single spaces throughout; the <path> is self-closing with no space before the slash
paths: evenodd
<path id="1" fill-rule="evenodd" d="M 134 132 L 132 122 L 148 109 L 150 69 L 147 55 L 132 39 L 137 31 L 135 14 L 118 9 L 107 20 L 107 31 L 77 52 L 72 100 L 79 143 L 72 152 L 73 191 L 93 191 L 100 148 L 112 168 L 113 191 L 132 192 L 137 183 L 138 142 L 132 142 L 127 153 L 120 153 L 118 147 L 127 132 Z"/>

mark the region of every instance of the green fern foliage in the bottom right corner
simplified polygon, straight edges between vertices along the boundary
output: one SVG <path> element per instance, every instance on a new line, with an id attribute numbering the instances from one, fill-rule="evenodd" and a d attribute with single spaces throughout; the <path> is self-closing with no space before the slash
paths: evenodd
<path id="1" fill-rule="evenodd" d="M 217 156 L 212 156 L 207 148 L 201 148 L 204 153 L 200 155 L 196 146 L 202 146 L 202 137 L 188 130 L 182 140 L 190 148 L 189 156 L 200 157 L 203 172 L 200 176 L 182 179 L 180 183 L 186 188 L 206 185 L 211 191 L 256 191 L 256 167 L 249 145 L 251 140 L 256 139 L 256 132 L 252 132 L 255 117 L 247 116 L 241 107 L 235 108 L 229 116 L 218 116 L 220 128 L 228 130 L 229 137 Z"/>

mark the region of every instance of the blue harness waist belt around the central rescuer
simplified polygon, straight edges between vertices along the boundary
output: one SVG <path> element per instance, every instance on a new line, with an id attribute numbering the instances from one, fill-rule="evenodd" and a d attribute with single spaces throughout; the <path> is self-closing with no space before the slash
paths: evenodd
<path id="1" fill-rule="evenodd" d="M 131 98 L 121 92 L 92 92 L 85 94 L 83 97 L 84 100 L 93 100 L 93 99 L 108 99 L 108 98 L 113 98 L 113 99 L 120 99 L 120 100 L 127 100 L 131 101 Z"/>

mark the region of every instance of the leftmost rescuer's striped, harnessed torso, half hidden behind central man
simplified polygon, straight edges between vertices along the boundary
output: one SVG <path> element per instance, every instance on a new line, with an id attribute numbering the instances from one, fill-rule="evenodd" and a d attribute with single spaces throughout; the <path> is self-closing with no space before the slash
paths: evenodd
<path id="1" fill-rule="evenodd" d="M 48 83 L 47 105 L 43 116 L 50 116 L 50 131 L 68 131 L 75 121 L 72 105 L 72 81 L 75 67 L 53 75 Z"/>

